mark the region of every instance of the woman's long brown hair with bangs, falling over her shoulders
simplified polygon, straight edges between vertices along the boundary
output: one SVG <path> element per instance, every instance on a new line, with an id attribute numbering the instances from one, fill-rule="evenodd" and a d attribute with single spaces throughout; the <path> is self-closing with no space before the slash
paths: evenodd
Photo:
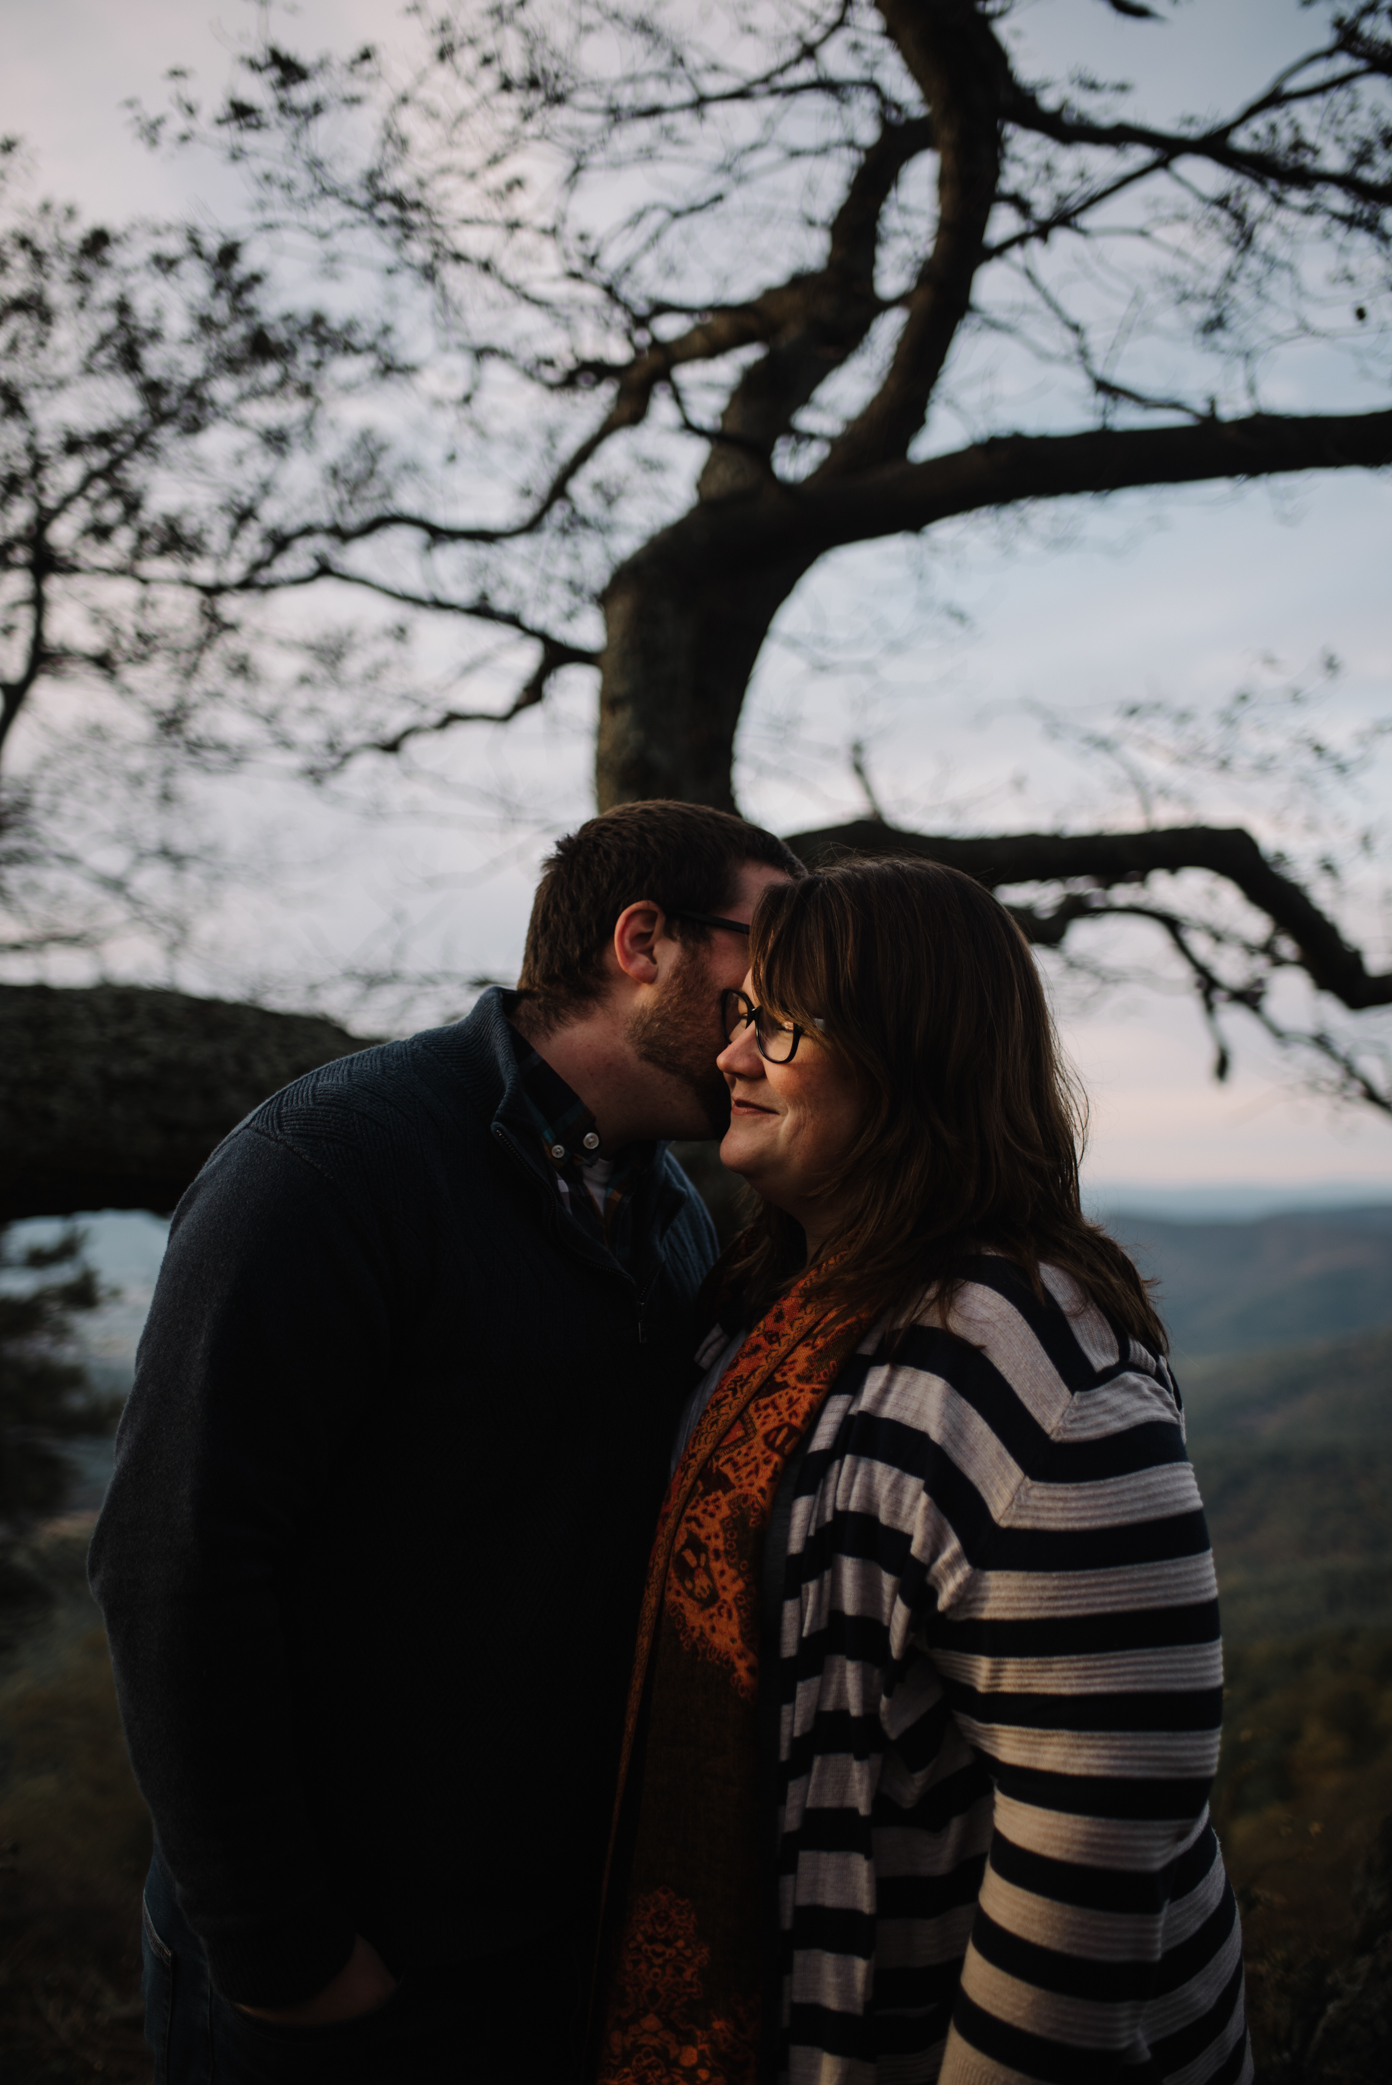
<path id="1" fill-rule="evenodd" d="M 1113 1324 L 1167 1347 L 1146 1284 L 1077 1197 L 1086 1103 L 1025 936 L 990 890 L 936 861 L 844 861 L 759 899 L 761 1005 L 823 1024 L 867 1101 L 821 1193 L 846 1216 L 819 1264 L 838 1320 L 944 1311 L 967 1257 L 998 1251 L 1040 1286 L 1065 1268 Z M 806 1045 L 804 1045 L 806 1047 Z M 802 1272 L 802 1226 L 763 1207 L 731 1270 L 759 1311 Z"/>

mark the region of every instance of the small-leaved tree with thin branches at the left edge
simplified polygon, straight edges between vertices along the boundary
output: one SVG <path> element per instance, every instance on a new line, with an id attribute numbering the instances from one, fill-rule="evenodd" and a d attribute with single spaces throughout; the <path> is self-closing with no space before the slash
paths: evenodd
<path id="1" fill-rule="evenodd" d="M 13 211 L 0 953 L 100 949 L 129 926 L 179 938 L 179 886 L 217 869 L 208 836 L 171 817 L 181 782 L 256 744 L 235 701 L 246 632 L 198 580 L 238 555 L 267 486 L 313 446 L 329 382 L 342 400 L 354 377 L 388 373 L 381 327 L 288 313 L 235 240 Z"/>

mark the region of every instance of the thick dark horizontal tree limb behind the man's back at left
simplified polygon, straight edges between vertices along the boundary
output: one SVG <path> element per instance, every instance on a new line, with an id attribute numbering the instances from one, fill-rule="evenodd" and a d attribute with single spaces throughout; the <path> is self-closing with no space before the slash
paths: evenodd
<path id="1" fill-rule="evenodd" d="M 4 984 L 0 1222 L 165 1213 L 269 1093 L 363 1047 L 313 1013 L 123 984 Z"/>

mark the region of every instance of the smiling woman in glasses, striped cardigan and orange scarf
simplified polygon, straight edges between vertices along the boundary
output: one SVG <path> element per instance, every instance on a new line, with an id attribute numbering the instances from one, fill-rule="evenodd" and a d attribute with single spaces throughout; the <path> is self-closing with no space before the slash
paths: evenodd
<path id="1" fill-rule="evenodd" d="M 1029 949 L 861 861 L 750 957 L 763 1211 L 648 1576 L 600 2085 L 1244 2081 L 1209 1537 Z"/>

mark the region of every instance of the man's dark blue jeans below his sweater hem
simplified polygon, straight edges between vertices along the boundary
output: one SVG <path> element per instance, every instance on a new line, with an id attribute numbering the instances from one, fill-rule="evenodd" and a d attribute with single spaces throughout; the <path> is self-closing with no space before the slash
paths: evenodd
<path id="1" fill-rule="evenodd" d="M 375 2012 L 275 2027 L 221 1995 L 158 1856 L 142 1908 L 154 2085 L 569 2085 L 583 2035 L 583 1952 L 525 1949 L 406 1968 Z"/>

